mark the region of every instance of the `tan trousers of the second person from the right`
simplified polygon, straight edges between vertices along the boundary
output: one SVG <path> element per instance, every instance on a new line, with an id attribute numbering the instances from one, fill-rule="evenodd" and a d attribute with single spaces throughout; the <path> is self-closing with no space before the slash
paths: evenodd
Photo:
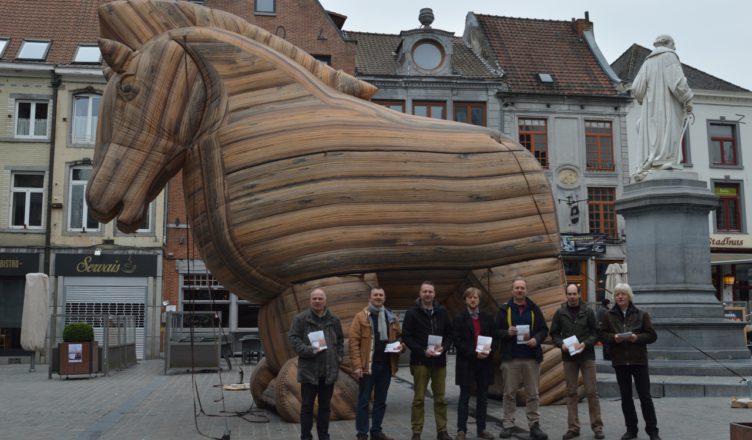
<path id="1" fill-rule="evenodd" d="M 580 432 L 580 418 L 577 414 L 579 401 L 579 375 L 582 372 L 582 382 L 585 385 L 585 395 L 588 399 L 590 414 L 590 428 L 593 432 L 603 432 L 601 418 L 601 404 L 598 401 L 598 388 L 595 379 L 595 361 L 592 359 L 581 362 L 562 362 L 564 364 L 564 380 L 567 383 L 567 424 L 570 431 Z"/>

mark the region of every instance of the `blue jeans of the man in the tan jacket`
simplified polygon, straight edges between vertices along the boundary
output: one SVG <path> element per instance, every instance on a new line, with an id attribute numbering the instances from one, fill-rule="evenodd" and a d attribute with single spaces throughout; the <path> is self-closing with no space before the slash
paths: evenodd
<path id="1" fill-rule="evenodd" d="M 386 412 L 386 394 L 392 382 L 390 362 L 374 362 L 371 374 L 364 374 L 358 383 L 358 410 L 355 415 L 355 429 L 358 435 L 368 434 L 368 402 L 373 392 L 373 414 L 371 416 L 371 435 L 381 433 L 381 422 Z"/>

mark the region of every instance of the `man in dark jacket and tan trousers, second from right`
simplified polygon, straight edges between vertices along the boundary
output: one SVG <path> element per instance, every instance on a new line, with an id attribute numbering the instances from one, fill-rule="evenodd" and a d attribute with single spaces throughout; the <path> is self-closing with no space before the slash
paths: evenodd
<path id="1" fill-rule="evenodd" d="M 595 438 L 606 438 L 603 434 L 603 420 L 601 419 L 601 405 L 598 401 L 598 389 L 595 380 L 595 344 L 598 342 L 598 321 L 595 313 L 580 299 L 580 289 L 576 284 L 570 284 L 566 290 L 567 302 L 561 305 L 551 321 L 551 339 L 554 345 L 561 348 L 561 359 L 564 361 L 564 380 L 567 383 L 567 432 L 563 440 L 573 439 L 580 435 L 580 419 L 577 415 L 577 401 L 579 395 L 579 375 L 585 384 L 585 395 L 588 399 L 590 413 L 590 427 Z M 576 337 L 577 342 L 567 346 L 564 340 Z M 573 341 L 569 341 L 573 342 Z M 571 347 L 571 348 L 570 348 Z M 570 350 L 576 354 L 571 355 Z"/>

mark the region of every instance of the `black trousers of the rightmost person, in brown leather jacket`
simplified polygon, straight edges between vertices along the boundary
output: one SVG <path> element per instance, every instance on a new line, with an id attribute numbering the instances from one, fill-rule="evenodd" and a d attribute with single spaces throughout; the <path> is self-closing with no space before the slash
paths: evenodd
<path id="1" fill-rule="evenodd" d="M 637 433 L 637 411 L 632 400 L 632 378 L 634 378 L 637 395 L 640 397 L 642 417 L 645 418 L 645 432 L 658 434 L 658 418 L 655 415 L 653 398 L 650 397 L 650 375 L 647 365 L 617 365 L 616 382 L 621 393 L 621 410 L 624 413 L 624 424 L 627 431 Z"/>

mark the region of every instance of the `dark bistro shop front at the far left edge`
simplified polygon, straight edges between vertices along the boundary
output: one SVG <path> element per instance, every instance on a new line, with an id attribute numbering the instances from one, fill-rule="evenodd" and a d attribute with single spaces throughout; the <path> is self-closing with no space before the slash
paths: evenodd
<path id="1" fill-rule="evenodd" d="M 21 354 L 26 274 L 40 270 L 36 252 L 0 252 L 0 356 Z"/>

